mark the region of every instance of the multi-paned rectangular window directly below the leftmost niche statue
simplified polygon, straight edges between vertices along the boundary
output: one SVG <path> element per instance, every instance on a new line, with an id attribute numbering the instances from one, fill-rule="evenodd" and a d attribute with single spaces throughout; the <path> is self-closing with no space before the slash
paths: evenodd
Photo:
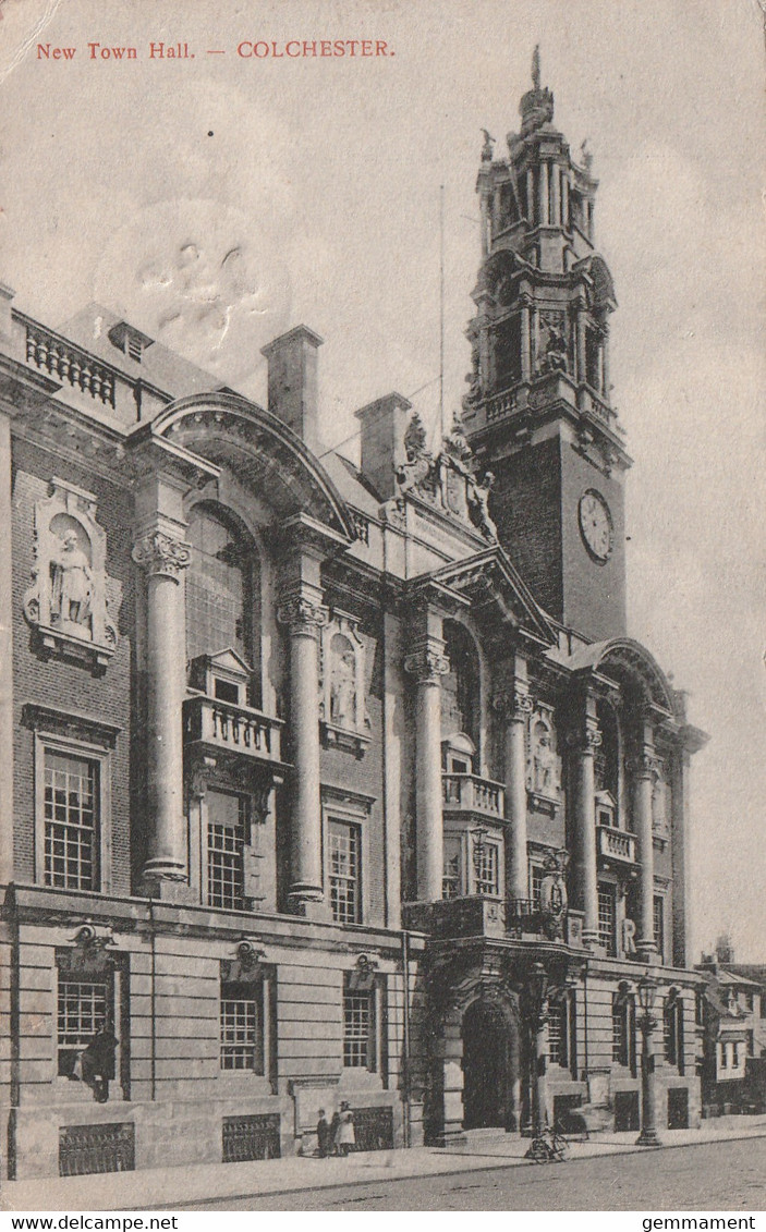
<path id="1" fill-rule="evenodd" d="M 99 763 L 44 752 L 46 885 L 99 890 Z"/>

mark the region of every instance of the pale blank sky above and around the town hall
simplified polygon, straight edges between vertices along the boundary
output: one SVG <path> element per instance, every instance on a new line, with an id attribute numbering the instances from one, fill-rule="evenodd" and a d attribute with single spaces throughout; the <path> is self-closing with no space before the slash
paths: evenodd
<path id="1" fill-rule="evenodd" d="M 0 0 L 0 281 L 64 323 L 96 299 L 265 403 L 304 323 L 328 446 L 397 389 L 459 407 L 480 128 L 518 128 L 541 44 L 587 138 L 617 288 L 628 622 L 711 736 L 693 759 L 693 952 L 766 961 L 764 15 L 757 0 Z M 241 57 L 372 39 L 385 57 Z M 70 59 L 39 57 L 75 48 Z M 188 58 L 149 58 L 150 43 Z M 95 58 L 89 43 L 99 44 Z M 102 48 L 135 47 L 135 59 Z M 208 54 L 214 52 L 217 54 Z"/>

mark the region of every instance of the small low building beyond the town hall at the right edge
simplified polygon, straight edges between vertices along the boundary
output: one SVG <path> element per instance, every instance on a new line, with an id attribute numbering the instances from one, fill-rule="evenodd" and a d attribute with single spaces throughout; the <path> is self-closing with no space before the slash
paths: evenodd
<path id="1" fill-rule="evenodd" d="M 733 960 L 733 955 L 732 955 Z M 764 967 L 703 955 L 698 1013 L 702 1027 L 702 1104 L 707 1115 L 762 1111 L 766 1026 Z M 749 978 L 761 973 L 761 981 Z"/>

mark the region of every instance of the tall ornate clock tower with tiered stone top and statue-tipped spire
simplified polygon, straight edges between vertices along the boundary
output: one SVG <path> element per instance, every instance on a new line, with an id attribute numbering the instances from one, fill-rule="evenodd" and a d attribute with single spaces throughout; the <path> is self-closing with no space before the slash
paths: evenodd
<path id="1" fill-rule="evenodd" d="M 631 460 L 611 404 L 615 287 L 595 248 L 592 159 L 585 143 L 573 158 L 557 131 L 537 48 L 520 113 L 506 156 L 484 133 L 463 428 L 494 474 L 500 541 L 536 599 L 600 641 L 626 631 Z"/>

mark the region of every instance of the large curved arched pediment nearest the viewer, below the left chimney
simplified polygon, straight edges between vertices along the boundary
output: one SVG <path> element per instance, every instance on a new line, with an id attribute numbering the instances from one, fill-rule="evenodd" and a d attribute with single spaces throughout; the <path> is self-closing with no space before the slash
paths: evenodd
<path id="1" fill-rule="evenodd" d="M 192 394 L 151 421 L 153 436 L 232 471 L 282 521 L 308 514 L 355 537 L 349 510 L 328 472 L 282 420 L 233 393 Z"/>

